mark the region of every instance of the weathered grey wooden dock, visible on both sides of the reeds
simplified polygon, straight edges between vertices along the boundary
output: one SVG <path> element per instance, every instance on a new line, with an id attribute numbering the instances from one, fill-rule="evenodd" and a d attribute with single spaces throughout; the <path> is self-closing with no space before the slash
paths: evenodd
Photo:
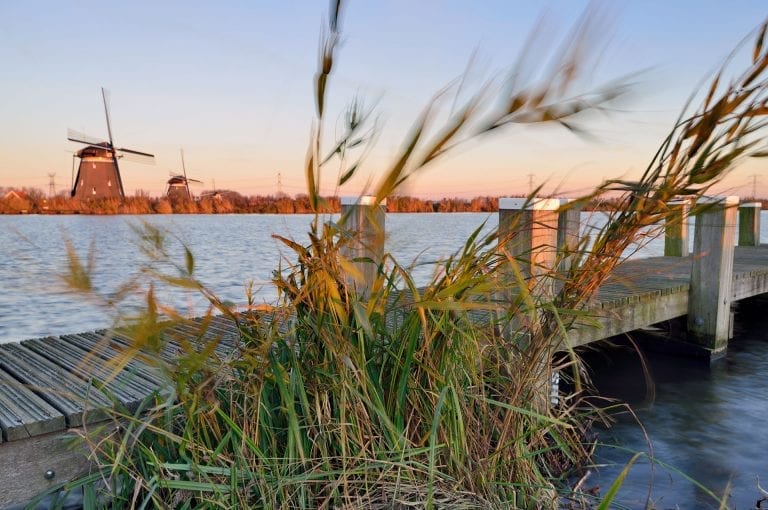
<path id="1" fill-rule="evenodd" d="M 541 223 L 541 218 L 535 221 Z M 759 238 L 754 244 L 731 246 L 731 281 L 725 287 L 719 282 L 719 287 L 728 289 L 723 298 L 728 309 L 742 299 L 768 293 L 768 245 L 760 245 Z M 620 265 L 589 307 L 600 327 L 573 331 L 570 345 L 690 315 L 693 275 L 701 253 L 699 247 L 698 253 Z M 173 338 L 194 338 L 193 329 L 182 325 L 169 329 L 161 356 L 172 360 L 181 352 Z M 201 340 L 213 338 L 219 340 L 219 356 L 237 352 L 240 336 L 232 320 L 213 319 Z M 67 431 L 103 422 L 108 408 L 134 411 L 153 392 L 171 391 L 156 368 L 138 358 L 115 373 L 110 362 L 129 342 L 118 334 L 97 331 L 0 344 L 0 508 L 26 501 L 87 468 L 84 457 L 68 449 Z"/>

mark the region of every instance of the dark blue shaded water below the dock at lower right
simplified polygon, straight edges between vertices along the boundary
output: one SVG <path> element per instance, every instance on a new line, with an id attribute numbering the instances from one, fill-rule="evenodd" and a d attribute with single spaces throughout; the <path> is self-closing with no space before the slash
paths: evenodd
<path id="1" fill-rule="evenodd" d="M 768 300 L 736 309 L 735 337 L 712 366 L 658 352 L 638 337 L 631 345 L 589 356 L 602 395 L 630 404 L 630 413 L 600 432 L 593 474 L 586 486 L 605 491 L 635 452 L 641 458 L 620 492 L 624 508 L 753 509 L 768 489 Z M 645 367 L 645 369 L 644 369 Z M 647 373 L 644 373 L 647 371 Z M 768 508 L 768 501 L 762 502 Z"/>

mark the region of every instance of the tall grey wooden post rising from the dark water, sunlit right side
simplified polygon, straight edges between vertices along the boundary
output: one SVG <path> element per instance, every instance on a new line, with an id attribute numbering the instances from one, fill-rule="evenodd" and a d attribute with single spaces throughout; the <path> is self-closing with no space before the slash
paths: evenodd
<path id="1" fill-rule="evenodd" d="M 731 284 L 739 197 L 703 197 L 696 203 L 693 264 L 688 297 L 688 338 L 725 354 L 731 325 Z"/>

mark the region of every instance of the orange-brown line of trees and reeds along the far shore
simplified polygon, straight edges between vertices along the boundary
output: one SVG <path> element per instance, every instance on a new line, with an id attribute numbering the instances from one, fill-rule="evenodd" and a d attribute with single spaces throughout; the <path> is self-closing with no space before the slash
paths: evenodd
<path id="1" fill-rule="evenodd" d="M 520 195 L 522 196 L 522 195 Z M 742 198 L 742 202 L 761 202 L 768 208 L 768 200 Z M 601 198 L 585 207 L 585 210 L 611 209 L 610 198 Z M 454 212 L 496 212 L 498 197 L 480 196 L 466 198 L 441 198 L 436 200 L 410 196 L 387 198 L 387 211 L 391 213 L 454 213 Z M 326 197 L 325 213 L 341 210 L 339 197 Z M 0 187 L 0 214 L 305 214 L 311 213 L 309 197 L 305 194 L 288 196 L 255 195 L 243 196 L 229 190 L 204 193 L 194 200 L 171 200 L 167 197 L 153 198 L 147 193 L 137 192 L 124 199 L 103 198 L 79 200 L 60 193 L 46 196 L 37 188 Z"/>

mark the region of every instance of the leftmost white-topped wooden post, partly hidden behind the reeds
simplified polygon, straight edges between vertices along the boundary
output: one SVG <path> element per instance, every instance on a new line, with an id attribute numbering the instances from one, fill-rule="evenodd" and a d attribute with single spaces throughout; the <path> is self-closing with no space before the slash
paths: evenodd
<path id="1" fill-rule="evenodd" d="M 347 283 L 359 295 L 373 289 L 379 265 L 384 257 L 386 234 L 386 199 L 376 203 L 376 197 L 342 197 L 340 223 L 350 236 L 342 255 L 350 260 L 357 274 L 348 274 Z"/>

